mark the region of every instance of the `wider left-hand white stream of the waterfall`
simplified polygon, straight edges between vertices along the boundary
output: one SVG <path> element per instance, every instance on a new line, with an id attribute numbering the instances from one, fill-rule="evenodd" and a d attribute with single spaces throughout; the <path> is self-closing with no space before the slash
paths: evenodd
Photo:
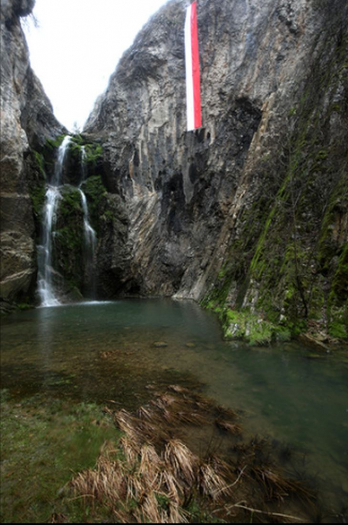
<path id="1" fill-rule="evenodd" d="M 52 239 L 57 220 L 58 203 L 61 198 L 59 186 L 63 173 L 64 158 L 70 140 L 71 137 L 67 135 L 59 146 L 51 184 L 47 185 L 46 190 L 42 222 L 42 244 L 38 246 L 38 293 L 41 306 L 58 306 L 60 304 L 53 287 Z"/>

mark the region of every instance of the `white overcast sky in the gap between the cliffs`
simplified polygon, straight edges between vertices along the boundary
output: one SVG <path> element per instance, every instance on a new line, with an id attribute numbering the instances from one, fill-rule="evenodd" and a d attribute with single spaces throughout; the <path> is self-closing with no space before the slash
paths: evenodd
<path id="1" fill-rule="evenodd" d="M 167 0 L 36 0 L 27 17 L 31 67 L 57 119 L 81 129 L 119 58 Z"/>

